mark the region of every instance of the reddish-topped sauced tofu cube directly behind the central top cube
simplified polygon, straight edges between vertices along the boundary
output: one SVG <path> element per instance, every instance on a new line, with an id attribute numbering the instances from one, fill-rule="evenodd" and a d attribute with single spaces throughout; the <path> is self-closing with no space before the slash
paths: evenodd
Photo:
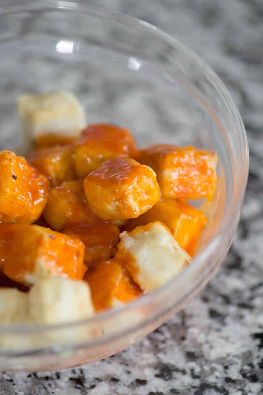
<path id="1" fill-rule="evenodd" d="M 134 148 L 135 141 L 129 130 L 113 125 L 89 125 L 76 143 L 76 173 L 84 178 L 106 159 L 128 158 Z"/>

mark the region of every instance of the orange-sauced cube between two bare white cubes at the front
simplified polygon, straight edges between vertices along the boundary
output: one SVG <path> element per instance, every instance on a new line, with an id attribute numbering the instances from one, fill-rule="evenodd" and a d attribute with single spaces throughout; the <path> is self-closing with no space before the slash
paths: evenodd
<path id="1" fill-rule="evenodd" d="M 96 311 L 118 307 L 142 293 L 140 288 L 131 282 L 120 262 L 114 258 L 98 263 L 87 271 L 83 280 L 89 284 Z"/>

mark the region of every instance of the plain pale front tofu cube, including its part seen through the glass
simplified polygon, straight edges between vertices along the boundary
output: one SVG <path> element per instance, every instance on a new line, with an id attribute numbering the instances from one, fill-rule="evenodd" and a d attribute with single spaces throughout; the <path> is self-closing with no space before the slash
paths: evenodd
<path id="1" fill-rule="evenodd" d="M 46 330 L 33 336 L 34 346 L 78 344 L 98 337 L 98 324 L 83 320 L 94 315 L 91 292 L 86 281 L 65 278 L 46 278 L 37 282 L 29 291 L 28 320 L 37 325 L 74 324 L 61 329 Z M 78 321 L 82 321 L 77 324 Z"/>

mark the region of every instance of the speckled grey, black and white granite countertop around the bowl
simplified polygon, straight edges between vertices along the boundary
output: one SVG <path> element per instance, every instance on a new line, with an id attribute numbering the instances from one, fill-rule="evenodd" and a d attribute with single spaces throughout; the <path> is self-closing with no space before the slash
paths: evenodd
<path id="1" fill-rule="evenodd" d="M 84 0 L 83 0 L 84 2 Z M 250 144 L 244 208 L 231 250 L 206 288 L 134 346 L 90 365 L 0 378 L 1 395 L 263 393 L 263 2 L 100 0 L 198 52 L 232 93 Z"/>

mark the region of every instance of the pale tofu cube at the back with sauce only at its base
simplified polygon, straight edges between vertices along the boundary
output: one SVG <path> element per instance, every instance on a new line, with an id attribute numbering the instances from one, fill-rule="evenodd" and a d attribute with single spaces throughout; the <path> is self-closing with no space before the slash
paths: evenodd
<path id="1" fill-rule="evenodd" d="M 86 126 L 83 107 L 76 96 L 68 92 L 24 93 L 17 99 L 17 113 L 26 147 L 46 134 L 77 137 Z"/>

